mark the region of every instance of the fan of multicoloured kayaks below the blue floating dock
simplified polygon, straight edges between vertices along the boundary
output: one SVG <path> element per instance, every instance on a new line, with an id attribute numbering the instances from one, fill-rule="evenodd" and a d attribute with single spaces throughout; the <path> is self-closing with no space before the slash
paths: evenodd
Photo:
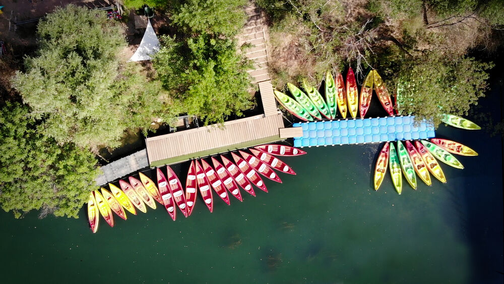
<path id="1" fill-rule="evenodd" d="M 387 168 L 390 169 L 392 183 L 399 194 L 402 192 L 403 176 L 413 189 L 417 187 L 417 176 L 428 186 L 432 184 L 430 174 L 440 182 L 446 183 L 446 177 L 437 160 L 456 168 L 464 168 L 452 153 L 465 156 L 478 155 L 473 149 L 447 139 L 414 141 L 414 145 L 410 141 L 405 141 L 404 144 L 402 141 L 397 141 L 397 151 L 393 142 L 386 142 L 374 168 L 374 190 L 380 188 Z"/>

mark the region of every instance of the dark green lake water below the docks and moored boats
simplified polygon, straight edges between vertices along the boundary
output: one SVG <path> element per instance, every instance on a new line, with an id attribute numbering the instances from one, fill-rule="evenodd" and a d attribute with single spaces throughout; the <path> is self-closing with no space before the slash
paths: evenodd
<path id="1" fill-rule="evenodd" d="M 501 139 L 436 134 L 479 156 L 442 164 L 445 185 L 403 180 L 402 195 L 388 174 L 372 189 L 379 145 L 344 145 L 304 148 L 283 158 L 297 175 L 266 181 L 269 193 L 230 206 L 214 194 L 214 213 L 199 199 L 176 221 L 158 205 L 92 234 L 85 208 L 79 219 L 2 211 L 2 283 L 501 283 Z"/>

